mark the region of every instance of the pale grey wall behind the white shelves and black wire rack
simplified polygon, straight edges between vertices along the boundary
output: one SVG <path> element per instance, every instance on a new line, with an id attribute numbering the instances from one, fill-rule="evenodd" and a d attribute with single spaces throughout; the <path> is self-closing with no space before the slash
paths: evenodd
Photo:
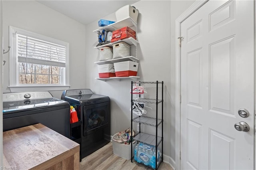
<path id="1" fill-rule="evenodd" d="M 139 45 L 138 76 L 140 81 L 164 81 L 164 154 L 167 162 L 175 166 L 175 19 L 194 1 L 146 1 L 133 4 L 138 16 L 137 38 Z M 104 18 L 116 21 L 115 14 Z M 97 34 L 98 20 L 86 25 L 86 87 L 94 93 L 107 95 L 111 99 L 111 134 L 130 127 L 130 79 L 100 81 L 95 61 L 99 59 Z M 154 88 L 147 89 L 154 94 Z M 154 96 L 153 96 L 154 97 Z M 152 106 L 152 105 L 149 105 Z M 160 106 L 160 105 L 158 105 Z M 150 112 L 150 110 L 147 110 Z M 153 114 L 151 111 L 149 114 Z M 147 113 L 148 114 L 148 113 Z M 135 127 L 134 127 L 135 128 Z M 135 128 L 136 129 L 136 128 Z M 142 127 L 143 131 L 154 129 Z"/>

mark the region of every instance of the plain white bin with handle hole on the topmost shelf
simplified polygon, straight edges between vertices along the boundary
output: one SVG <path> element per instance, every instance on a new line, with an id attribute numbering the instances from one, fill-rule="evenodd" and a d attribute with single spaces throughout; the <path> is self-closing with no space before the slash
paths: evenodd
<path id="1" fill-rule="evenodd" d="M 126 5 L 116 11 L 116 20 L 124 20 L 128 17 L 131 17 L 135 22 L 137 22 L 139 10 L 134 6 Z"/>

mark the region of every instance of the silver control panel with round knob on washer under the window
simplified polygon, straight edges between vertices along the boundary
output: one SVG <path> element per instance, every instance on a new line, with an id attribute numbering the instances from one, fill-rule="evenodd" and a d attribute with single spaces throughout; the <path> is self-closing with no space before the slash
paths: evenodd
<path id="1" fill-rule="evenodd" d="M 52 95 L 48 91 L 4 93 L 3 101 L 42 99 L 42 98 L 51 98 L 51 97 L 52 97 Z"/>

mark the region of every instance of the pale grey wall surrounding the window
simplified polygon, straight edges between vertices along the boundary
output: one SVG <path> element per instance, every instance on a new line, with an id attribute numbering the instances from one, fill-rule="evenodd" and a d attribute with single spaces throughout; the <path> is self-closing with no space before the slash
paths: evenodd
<path id="1" fill-rule="evenodd" d="M 3 1 L 3 37 L 4 49 L 8 47 L 8 26 L 14 26 L 44 36 L 49 36 L 69 43 L 70 47 L 70 89 L 84 88 L 85 72 L 85 26 L 59 12 L 36 1 Z M 10 92 L 9 53 L 3 56 L 4 65 L 3 92 Z M 62 91 L 51 91 L 59 98 Z"/>

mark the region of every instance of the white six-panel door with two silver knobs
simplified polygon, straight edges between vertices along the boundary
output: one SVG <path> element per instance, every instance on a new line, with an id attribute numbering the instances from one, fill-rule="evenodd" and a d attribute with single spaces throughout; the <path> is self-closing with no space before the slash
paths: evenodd
<path id="1" fill-rule="evenodd" d="M 210 0 L 181 24 L 182 170 L 254 169 L 254 14 L 252 0 Z"/>

